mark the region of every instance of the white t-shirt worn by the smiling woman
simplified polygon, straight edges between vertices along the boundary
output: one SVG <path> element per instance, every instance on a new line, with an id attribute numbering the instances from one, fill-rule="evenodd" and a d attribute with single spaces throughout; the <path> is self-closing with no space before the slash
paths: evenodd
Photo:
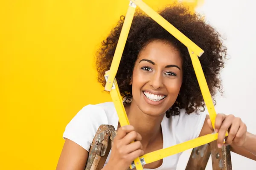
<path id="1" fill-rule="evenodd" d="M 205 113 L 191 113 L 188 115 L 183 109 L 180 110 L 178 116 L 171 116 L 169 119 L 164 116 L 161 123 L 163 148 L 197 138 L 204 125 L 205 118 Z M 117 129 L 118 116 L 113 102 L 87 105 L 82 108 L 67 125 L 63 137 L 76 142 L 89 151 L 94 135 L 102 124 L 113 125 Z M 154 170 L 175 170 L 180 154 L 164 158 L 163 164 Z M 108 163 L 110 155 L 111 151 L 106 163 Z"/>

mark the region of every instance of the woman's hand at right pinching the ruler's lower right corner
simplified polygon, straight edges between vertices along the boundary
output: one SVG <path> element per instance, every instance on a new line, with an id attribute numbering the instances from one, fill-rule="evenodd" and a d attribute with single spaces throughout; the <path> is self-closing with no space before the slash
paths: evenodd
<path id="1" fill-rule="evenodd" d="M 212 127 L 210 119 L 207 123 Z M 228 136 L 225 139 L 225 134 L 228 131 Z M 215 119 L 215 132 L 218 133 L 218 147 L 221 148 L 224 144 L 234 144 L 243 146 L 246 141 L 247 127 L 240 118 L 234 115 L 217 114 Z"/>

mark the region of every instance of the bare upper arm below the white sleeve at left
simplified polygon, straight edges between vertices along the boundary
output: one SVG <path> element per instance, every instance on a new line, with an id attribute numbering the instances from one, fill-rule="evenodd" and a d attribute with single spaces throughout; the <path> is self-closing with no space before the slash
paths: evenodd
<path id="1" fill-rule="evenodd" d="M 66 139 L 56 170 L 84 170 L 87 158 L 87 150 Z"/>

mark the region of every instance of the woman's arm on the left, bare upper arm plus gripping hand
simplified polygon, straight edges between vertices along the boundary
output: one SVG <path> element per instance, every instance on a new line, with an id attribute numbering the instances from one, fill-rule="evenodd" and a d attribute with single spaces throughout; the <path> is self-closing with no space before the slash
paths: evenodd
<path id="1" fill-rule="evenodd" d="M 136 142 L 131 143 L 136 140 Z M 102 170 L 127 170 L 131 162 L 144 154 L 142 137 L 133 126 L 119 128 L 111 147 L 111 155 Z M 84 170 L 88 151 L 75 142 L 66 139 L 56 170 Z"/>

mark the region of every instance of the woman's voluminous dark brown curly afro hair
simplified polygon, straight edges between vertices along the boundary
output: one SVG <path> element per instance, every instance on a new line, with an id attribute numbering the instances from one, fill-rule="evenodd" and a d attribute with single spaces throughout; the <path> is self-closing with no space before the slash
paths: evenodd
<path id="1" fill-rule="evenodd" d="M 224 68 L 227 49 L 222 45 L 220 34 L 207 24 L 199 14 L 192 14 L 189 8 L 183 5 L 166 7 L 159 14 L 204 50 L 204 54 L 199 57 L 199 60 L 209 91 L 212 96 L 216 94 L 217 90 L 221 92 L 220 71 Z M 96 67 L 99 73 L 98 81 L 103 86 L 105 86 L 104 74 L 105 71 L 110 69 L 124 20 L 125 17 L 121 16 L 117 26 L 113 28 L 106 40 L 102 42 L 102 46 L 96 56 Z M 180 109 L 185 109 L 187 114 L 204 111 L 204 99 L 188 49 L 153 19 L 138 11 L 134 15 L 116 74 L 116 80 L 122 97 L 124 99 L 131 99 L 132 87 L 129 85 L 129 82 L 132 77 L 134 63 L 140 51 L 153 40 L 163 40 L 171 43 L 180 51 L 183 59 L 183 83 L 180 88 L 180 94 L 175 104 L 166 111 L 166 116 L 169 118 L 171 115 L 178 115 Z M 124 103 L 128 104 L 127 100 L 124 100 Z"/>

